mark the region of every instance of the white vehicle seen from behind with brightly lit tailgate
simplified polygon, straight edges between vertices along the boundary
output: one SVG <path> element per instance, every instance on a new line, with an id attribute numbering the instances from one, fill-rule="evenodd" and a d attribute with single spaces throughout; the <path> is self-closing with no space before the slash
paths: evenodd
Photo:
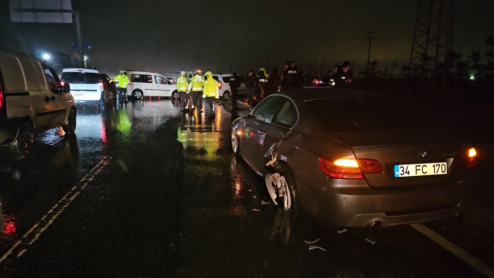
<path id="1" fill-rule="evenodd" d="M 94 69 L 67 68 L 62 70 L 62 84 L 69 83 L 76 104 L 105 103 L 105 86 L 100 73 Z"/>

